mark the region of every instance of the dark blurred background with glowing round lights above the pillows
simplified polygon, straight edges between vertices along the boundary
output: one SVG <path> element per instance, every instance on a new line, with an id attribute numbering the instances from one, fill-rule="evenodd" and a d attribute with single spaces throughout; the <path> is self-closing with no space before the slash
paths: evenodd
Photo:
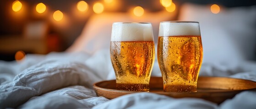
<path id="1" fill-rule="evenodd" d="M 0 60 L 65 51 L 95 15 L 126 13 L 132 21 L 143 21 L 155 13 L 179 20 L 180 7 L 187 3 L 205 6 L 212 15 L 223 8 L 256 5 L 255 0 L 0 0 Z"/>

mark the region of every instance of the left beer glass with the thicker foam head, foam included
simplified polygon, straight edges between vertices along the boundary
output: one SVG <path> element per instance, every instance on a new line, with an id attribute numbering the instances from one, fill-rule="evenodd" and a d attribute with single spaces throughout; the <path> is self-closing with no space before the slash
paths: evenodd
<path id="1" fill-rule="evenodd" d="M 110 58 L 117 89 L 148 91 L 155 59 L 151 23 L 113 23 Z"/>

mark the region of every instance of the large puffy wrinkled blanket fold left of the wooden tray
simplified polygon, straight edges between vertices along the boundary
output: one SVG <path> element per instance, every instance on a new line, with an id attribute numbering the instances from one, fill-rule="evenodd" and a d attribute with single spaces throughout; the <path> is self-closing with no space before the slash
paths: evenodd
<path id="1" fill-rule="evenodd" d="M 70 60 L 45 60 L 15 76 L 12 82 L 0 86 L 1 107 L 16 107 L 33 96 L 71 85 L 92 89 L 101 80 L 82 63 Z"/>

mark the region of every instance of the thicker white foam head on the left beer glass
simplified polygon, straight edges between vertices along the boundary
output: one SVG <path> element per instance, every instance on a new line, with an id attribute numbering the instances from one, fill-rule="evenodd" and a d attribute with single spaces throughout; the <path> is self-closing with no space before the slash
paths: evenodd
<path id="1" fill-rule="evenodd" d="M 152 25 L 151 23 L 113 23 L 111 41 L 153 41 Z"/>

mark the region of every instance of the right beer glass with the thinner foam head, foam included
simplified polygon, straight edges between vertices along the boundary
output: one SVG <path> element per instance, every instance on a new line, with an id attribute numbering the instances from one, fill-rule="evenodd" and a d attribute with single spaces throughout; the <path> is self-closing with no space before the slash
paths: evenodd
<path id="1" fill-rule="evenodd" d="M 196 92 L 203 50 L 198 22 L 160 23 L 158 64 L 167 92 Z"/>

